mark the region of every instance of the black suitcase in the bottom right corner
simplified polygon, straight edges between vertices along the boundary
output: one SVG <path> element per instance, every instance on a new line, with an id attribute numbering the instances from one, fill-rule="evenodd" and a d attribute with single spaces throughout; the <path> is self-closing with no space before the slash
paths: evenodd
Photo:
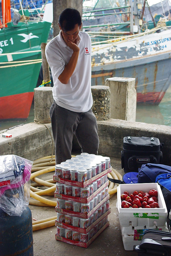
<path id="1" fill-rule="evenodd" d="M 148 229 L 144 233 L 140 245 L 134 250 L 138 256 L 171 256 L 171 233 Z"/>

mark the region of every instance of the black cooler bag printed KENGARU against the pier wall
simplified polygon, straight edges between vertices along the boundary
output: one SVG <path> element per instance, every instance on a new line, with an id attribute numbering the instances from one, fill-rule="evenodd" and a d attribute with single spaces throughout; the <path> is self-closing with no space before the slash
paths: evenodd
<path id="1" fill-rule="evenodd" d="M 124 172 L 138 172 L 142 164 L 160 164 L 162 144 L 154 137 L 124 137 L 121 164 Z"/>

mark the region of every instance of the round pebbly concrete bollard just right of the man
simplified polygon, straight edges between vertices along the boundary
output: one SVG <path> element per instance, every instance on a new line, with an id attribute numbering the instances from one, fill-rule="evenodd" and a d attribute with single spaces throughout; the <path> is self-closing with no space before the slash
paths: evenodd
<path id="1" fill-rule="evenodd" d="M 92 111 L 97 120 L 110 118 L 110 88 L 108 86 L 91 86 L 93 96 Z"/>

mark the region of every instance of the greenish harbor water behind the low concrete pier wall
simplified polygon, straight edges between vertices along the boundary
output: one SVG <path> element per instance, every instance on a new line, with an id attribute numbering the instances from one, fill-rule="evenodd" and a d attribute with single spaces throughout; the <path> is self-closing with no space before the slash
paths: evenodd
<path id="1" fill-rule="evenodd" d="M 34 103 L 31 105 L 28 119 L 0 121 L 0 130 L 7 130 L 30 122 L 34 122 Z M 171 86 L 159 105 L 137 105 L 136 122 L 171 126 Z"/>

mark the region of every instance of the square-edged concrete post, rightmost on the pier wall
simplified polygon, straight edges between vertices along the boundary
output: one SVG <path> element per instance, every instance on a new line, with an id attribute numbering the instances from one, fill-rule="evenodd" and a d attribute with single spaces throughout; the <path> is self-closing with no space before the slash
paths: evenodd
<path id="1" fill-rule="evenodd" d="M 135 78 L 112 77 L 105 80 L 111 97 L 111 118 L 136 121 Z"/>

